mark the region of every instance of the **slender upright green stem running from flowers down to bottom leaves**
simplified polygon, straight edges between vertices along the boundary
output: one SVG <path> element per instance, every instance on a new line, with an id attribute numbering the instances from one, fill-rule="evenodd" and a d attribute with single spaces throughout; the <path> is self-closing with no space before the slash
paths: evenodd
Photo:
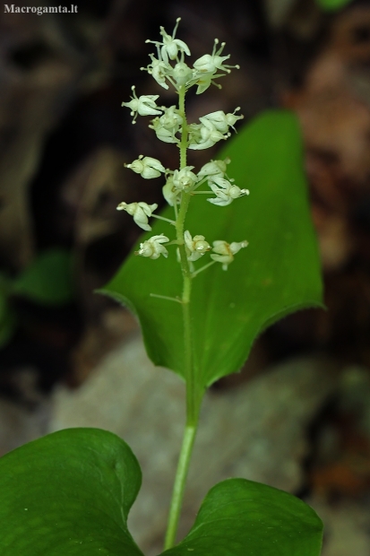
<path id="1" fill-rule="evenodd" d="M 186 166 L 187 150 L 187 123 L 185 117 L 185 89 L 178 91 L 178 109 L 183 117 L 183 131 L 180 141 L 180 169 Z M 169 507 L 168 529 L 165 540 L 165 550 L 171 548 L 176 541 L 176 532 L 181 508 L 183 505 L 185 484 L 190 465 L 190 459 L 194 447 L 194 439 L 198 426 L 198 415 L 202 402 L 202 395 L 198 395 L 195 386 L 194 376 L 194 345 L 192 338 L 192 317 L 191 317 L 191 293 L 192 293 L 192 274 L 190 272 L 189 261 L 187 260 L 184 240 L 185 216 L 190 203 L 191 195 L 183 192 L 181 195 L 180 208 L 176 218 L 176 242 L 180 252 L 181 271 L 183 274 L 183 293 L 181 297 L 184 324 L 184 358 L 185 358 L 185 382 L 186 382 L 186 426 L 178 459 L 176 478 L 172 499 Z"/>

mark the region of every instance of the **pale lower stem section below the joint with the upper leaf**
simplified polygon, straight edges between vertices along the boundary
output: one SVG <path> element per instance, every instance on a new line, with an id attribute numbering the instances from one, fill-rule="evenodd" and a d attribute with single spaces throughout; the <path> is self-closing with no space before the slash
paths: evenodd
<path id="1" fill-rule="evenodd" d="M 174 490 L 172 492 L 172 500 L 168 517 L 168 529 L 164 546 L 165 550 L 168 550 L 168 548 L 174 546 L 176 542 L 178 520 L 183 503 L 186 477 L 189 470 L 190 459 L 193 453 L 196 430 L 196 423 L 194 425 L 187 425 L 185 427 L 183 445 L 181 447 L 180 456 L 178 458 Z"/>

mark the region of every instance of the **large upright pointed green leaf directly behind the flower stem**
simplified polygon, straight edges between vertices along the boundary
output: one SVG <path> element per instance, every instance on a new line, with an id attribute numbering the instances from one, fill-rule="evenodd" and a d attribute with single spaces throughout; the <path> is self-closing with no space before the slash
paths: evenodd
<path id="1" fill-rule="evenodd" d="M 185 230 L 203 234 L 210 243 L 247 239 L 249 246 L 227 272 L 213 265 L 193 281 L 195 381 L 201 389 L 240 369 L 266 326 L 299 308 L 322 307 L 297 118 L 288 111 L 268 111 L 245 126 L 219 156 L 230 157 L 228 175 L 250 195 L 226 207 L 194 195 Z M 164 215 L 173 217 L 172 209 Z M 173 226 L 156 222 L 141 240 L 162 232 L 174 238 Z M 172 246 L 168 259 L 154 261 L 130 256 L 102 292 L 139 317 L 151 360 L 184 376 L 181 305 L 151 297 L 181 296 L 175 250 Z M 198 261 L 204 262 L 206 256 Z"/>

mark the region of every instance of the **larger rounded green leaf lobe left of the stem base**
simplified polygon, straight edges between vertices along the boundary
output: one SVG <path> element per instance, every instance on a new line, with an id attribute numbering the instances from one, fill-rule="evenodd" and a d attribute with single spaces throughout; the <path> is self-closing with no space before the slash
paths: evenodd
<path id="1" fill-rule="evenodd" d="M 142 556 L 127 529 L 141 471 L 125 442 L 61 430 L 0 459 L 4 556 Z"/>

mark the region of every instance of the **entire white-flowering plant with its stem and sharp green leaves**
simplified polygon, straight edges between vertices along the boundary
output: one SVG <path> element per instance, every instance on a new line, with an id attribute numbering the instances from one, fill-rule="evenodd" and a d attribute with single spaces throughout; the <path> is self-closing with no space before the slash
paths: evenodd
<path id="1" fill-rule="evenodd" d="M 157 214 L 157 204 L 118 205 L 146 235 L 102 290 L 133 309 L 151 360 L 185 380 L 185 433 L 163 554 L 318 556 L 322 523 L 314 510 L 286 492 L 245 479 L 214 486 L 193 528 L 176 544 L 207 387 L 240 369 L 254 337 L 271 322 L 297 308 L 321 306 L 322 289 L 291 115 L 267 113 L 217 160 L 198 171 L 188 164 L 188 150 L 228 139 L 242 117 L 238 109 L 219 110 L 200 117 L 200 123 L 187 121 L 186 92 L 219 86 L 217 80 L 237 66 L 225 63 L 229 56 L 222 56 L 225 45 L 218 40 L 211 54 L 187 65 L 190 49 L 176 39 L 178 22 L 172 35 L 160 28 L 161 41 L 147 41 L 157 53 L 142 68 L 164 89 L 175 88 L 178 105 L 159 106 L 159 95 L 138 97 L 134 87 L 131 100 L 123 103 L 133 123 L 138 116 L 153 116 L 155 135 L 179 150 L 178 169 L 142 154 L 126 165 L 142 178 L 164 178 L 168 208 Z M 227 173 L 230 161 L 235 178 Z M 237 185 L 245 185 L 245 176 L 254 185 L 247 202 L 248 189 Z M 151 218 L 158 220 L 153 230 Z M 203 263 L 207 256 L 211 260 Z M 107 431 L 62 430 L 18 448 L 0 460 L 0 546 L 7 556 L 142 556 L 127 527 L 140 482 L 131 449 Z"/>

